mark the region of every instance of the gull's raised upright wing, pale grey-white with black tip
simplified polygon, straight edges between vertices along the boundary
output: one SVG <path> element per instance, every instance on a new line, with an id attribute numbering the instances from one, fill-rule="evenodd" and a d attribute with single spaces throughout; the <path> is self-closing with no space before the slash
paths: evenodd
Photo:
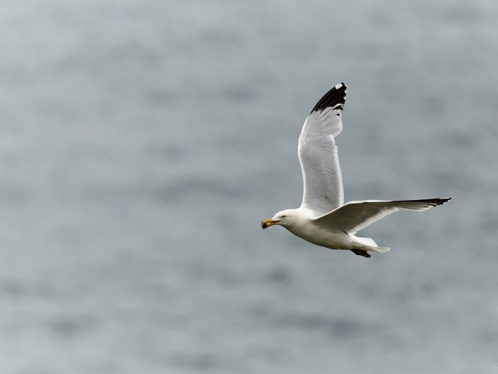
<path id="1" fill-rule="evenodd" d="M 343 129 L 346 86 L 339 83 L 314 106 L 297 144 L 304 192 L 301 206 L 317 216 L 344 204 L 343 176 L 334 136 Z"/>

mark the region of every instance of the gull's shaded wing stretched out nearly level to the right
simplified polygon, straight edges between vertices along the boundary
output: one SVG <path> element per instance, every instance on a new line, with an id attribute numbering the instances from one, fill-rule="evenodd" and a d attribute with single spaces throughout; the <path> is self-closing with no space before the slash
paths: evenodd
<path id="1" fill-rule="evenodd" d="M 314 223 L 327 228 L 337 228 L 346 233 L 355 234 L 375 221 L 400 209 L 425 211 L 432 206 L 444 204 L 451 198 L 399 201 L 351 201 L 324 216 L 314 219 Z"/>

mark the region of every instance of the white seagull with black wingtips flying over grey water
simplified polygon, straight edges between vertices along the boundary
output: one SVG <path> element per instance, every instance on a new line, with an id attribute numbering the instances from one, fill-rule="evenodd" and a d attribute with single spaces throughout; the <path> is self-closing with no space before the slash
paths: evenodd
<path id="1" fill-rule="evenodd" d="M 344 204 L 343 177 L 340 173 L 336 136 L 343 129 L 346 85 L 329 90 L 309 113 L 297 142 L 304 192 L 301 206 L 279 211 L 261 221 L 263 230 L 283 226 L 294 235 L 331 250 L 350 250 L 371 257 L 369 252 L 384 253 L 372 238 L 356 233 L 388 214 L 401 209 L 425 211 L 451 200 L 451 197 L 421 200 L 364 200 Z"/>

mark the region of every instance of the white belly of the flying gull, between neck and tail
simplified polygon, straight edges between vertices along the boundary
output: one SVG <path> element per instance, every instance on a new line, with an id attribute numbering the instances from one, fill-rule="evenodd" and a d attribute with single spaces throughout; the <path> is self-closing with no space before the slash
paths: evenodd
<path id="1" fill-rule="evenodd" d="M 333 250 L 349 250 L 352 247 L 352 235 L 340 230 L 327 230 L 319 226 L 308 225 L 293 228 L 290 232 L 307 242 Z"/>

